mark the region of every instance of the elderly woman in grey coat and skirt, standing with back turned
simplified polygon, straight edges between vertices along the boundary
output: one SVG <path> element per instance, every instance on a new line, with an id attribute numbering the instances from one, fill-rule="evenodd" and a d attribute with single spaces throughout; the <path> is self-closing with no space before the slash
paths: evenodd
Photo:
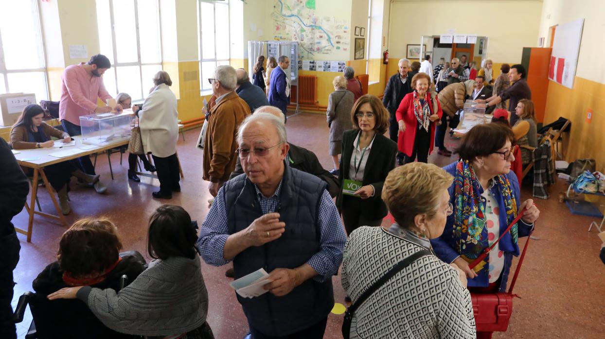
<path id="1" fill-rule="evenodd" d="M 334 169 L 330 171 L 338 175 L 338 155 L 342 153 L 342 133 L 353 129 L 351 110 L 355 103 L 353 92 L 347 91 L 347 79 L 343 76 L 334 78 L 334 92 L 328 98 L 328 110 L 325 113 L 330 128 L 330 155 L 334 162 Z"/>

